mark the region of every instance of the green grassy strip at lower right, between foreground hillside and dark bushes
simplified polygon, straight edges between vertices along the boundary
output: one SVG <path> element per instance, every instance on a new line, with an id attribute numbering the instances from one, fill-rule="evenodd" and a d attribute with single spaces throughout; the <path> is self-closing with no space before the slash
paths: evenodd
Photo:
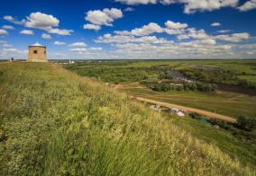
<path id="1" fill-rule="evenodd" d="M 176 116 L 172 117 L 172 119 L 173 123 L 186 128 L 188 132 L 205 140 L 207 143 L 218 146 L 224 153 L 239 157 L 242 162 L 255 166 L 256 148 L 234 137 L 232 131 L 227 131 L 223 128 L 215 129 L 213 126 L 206 126 L 195 119 L 184 119 Z"/>

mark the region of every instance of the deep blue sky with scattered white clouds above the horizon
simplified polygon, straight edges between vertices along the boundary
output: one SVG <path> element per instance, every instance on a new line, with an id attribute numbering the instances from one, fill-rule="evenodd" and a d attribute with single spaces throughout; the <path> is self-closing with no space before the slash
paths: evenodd
<path id="1" fill-rule="evenodd" d="M 256 58 L 256 0 L 0 0 L 0 59 Z"/>

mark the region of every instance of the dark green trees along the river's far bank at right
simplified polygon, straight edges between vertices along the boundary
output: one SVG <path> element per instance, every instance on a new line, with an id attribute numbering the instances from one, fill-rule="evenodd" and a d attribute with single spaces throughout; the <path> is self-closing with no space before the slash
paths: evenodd
<path id="1" fill-rule="evenodd" d="M 180 70 L 180 72 L 192 79 L 219 84 L 233 84 L 256 89 L 256 83 L 251 83 L 248 80 L 240 79 L 238 77 L 238 75 L 246 75 L 244 72 L 240 73 L 232 70 L 207 70 L 200 68 L 187 68 Z"/>

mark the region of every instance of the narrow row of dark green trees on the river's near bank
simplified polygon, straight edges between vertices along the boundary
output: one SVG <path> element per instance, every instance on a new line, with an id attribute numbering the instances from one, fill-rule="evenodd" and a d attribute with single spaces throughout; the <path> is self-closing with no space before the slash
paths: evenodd
<path id="1" fill-rule="evenodd" d="M 150 84 L 148 84 L 150 86 Z M 211 92 L 217 89 L 216 84 L 202 84 L 202 83 L 184 83 L 184 84 L 155 84 L 151 87 L 154 91 L 168 92 L 170 90 L 177 91 L 199 91 L 199 92 Z"/>

